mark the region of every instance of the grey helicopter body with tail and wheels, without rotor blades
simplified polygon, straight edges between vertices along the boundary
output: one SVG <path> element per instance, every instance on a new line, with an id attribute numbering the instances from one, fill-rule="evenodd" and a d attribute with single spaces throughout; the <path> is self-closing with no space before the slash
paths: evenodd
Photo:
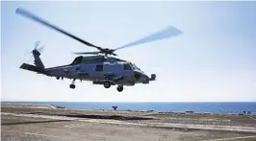
<path id="1" fill-rule="evenodd" d="M 77 57 L 72 63 L 57 67 L 41 67 L 39 55 L 35 55 L 35 65 L 23 63 L 20 68 L 38 72 L 49 77 L 71 79 L 70 88 L 75 88 L 75 80 L 90 81 L 93 84 L 103 84 L 106 88 L 117 84 L 117 90 L 122 91 L 123 85 L 132 86 L 136 83 L 155 81 L 154 74 L 149 78 L 134 63 L 123 59 L 105 58 L 104 56 Z"/>

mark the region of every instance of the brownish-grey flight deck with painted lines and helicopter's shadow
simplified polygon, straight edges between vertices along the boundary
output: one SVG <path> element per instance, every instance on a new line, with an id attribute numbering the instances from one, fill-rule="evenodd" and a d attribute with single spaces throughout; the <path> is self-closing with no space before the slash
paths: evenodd
<path id="1" fill-rule="evenodd" d="M 3 141 L 256 140 L 256 116 L 1 105 Z"/>

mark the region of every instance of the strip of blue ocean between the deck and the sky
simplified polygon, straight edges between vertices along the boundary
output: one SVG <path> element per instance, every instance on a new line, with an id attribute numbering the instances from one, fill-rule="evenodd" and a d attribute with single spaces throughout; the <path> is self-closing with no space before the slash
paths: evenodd
<path id="1" fill-rule="evenodd" d="M 208 112 L 208 113 L 243 113 L 251 112 L 256 115 L 256 102 L 247 103 L 110 103 L 110 102 L 1 102 L 2 104 L 47 104 L 53 106 L 64 106 L 76 109 L 113 109 L 159 112 Z"/>

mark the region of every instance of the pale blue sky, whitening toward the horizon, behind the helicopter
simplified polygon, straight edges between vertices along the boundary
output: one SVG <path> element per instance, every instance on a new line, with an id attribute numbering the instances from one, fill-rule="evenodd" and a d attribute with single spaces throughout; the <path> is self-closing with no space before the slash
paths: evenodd
<path id="1" fill-rule="evenodd" d="M 117 92 L 91 82 L 57 81 L 19 69 L 40 40 L 46 67 L 95 51 L 15 14 L 22 7 L 98 46 L 115 48 L 174 26 L 182 35 L 115 52 L 149 84 Z M 1 101 L 255 102 L 256 2 L 1 2 Z"/>

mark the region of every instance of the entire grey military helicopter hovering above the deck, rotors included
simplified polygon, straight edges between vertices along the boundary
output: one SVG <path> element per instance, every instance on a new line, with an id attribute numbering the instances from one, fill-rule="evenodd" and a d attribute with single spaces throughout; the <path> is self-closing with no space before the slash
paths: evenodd
<path id="1" fill-rule="evenodd" d="M 180 35 L 181 31 L 169 26 L 166 29 L 159 31 L 153 35 L 145 36 L 139 40 L 127 43 L 115 49 L 103 48 L 96 46 L 78 36 L 65 32 L 63 29 L 51 24 L 50 22 L 38 17 L 33 12 L 29 12 L 22 8 L 17 8 L 15 13 L 24 17 L 32 19 L 39 24 L 42 24 L 52 30 L 55 30 L 63 35 L 67 35 L 89 47 L 97 49 L 94 52 L 78 52 L 78 55 L 71 63 L 45 68 L 40 59 L 40 50 L 38 48 L 39 42 L 35 43 L 35 48 L 32 50 L 34 57 L 34 65 L 29 63 L 22 63 L 19 68 L 36 72 L 48 77 L 55 77 L 57 80 L 70 79 L 72 80 L 69 87 L 75 88 L 75 81 L 89 81 L 93 84 L 104 85 L 105 88 L 110 88 L 112 85 L 117 85 L 118 92 L 123 90 L 123 86 L 134 86 L 137 83 L 148 84 L 156 81 L 156 74 L 146 75 L 135 63 L 124 59 L 118 59 L 115 56 L 115 51 L 131 46 L 136 46 L 142 43 L 151 42 L 159 39 L 164 39 L 170 36 Z"/>

